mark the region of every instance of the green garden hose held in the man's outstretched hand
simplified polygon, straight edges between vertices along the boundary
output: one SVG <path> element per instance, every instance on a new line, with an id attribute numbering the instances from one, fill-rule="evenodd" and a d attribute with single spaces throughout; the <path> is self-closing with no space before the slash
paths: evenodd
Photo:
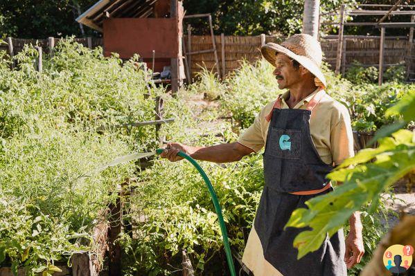
<path id="1" fill-rule="evenodd" d="M 156 150 L 156 153 L 157 154 L 161 154 L 163 151 L 164 151 L 164 149 L 157 149 Z M 220 231 L 222 232 L 222 238 L 223 238 L 223 244 L 224 244 L 224 251 L 226 252 L 226 255 L 227 255 L 227 261 L 228 261 L 229 270 L 231 271 L 231 276 L 236 276 L 235 266 L 233 266 L 233 259 L 232 259 L 232 254 L 231 254 L 231 247 L 229 246 L 229 240 L 228 240 L 228 234 L 227 234 L 227 227 L 224 225 L 224 220 L 223 220 L 223 216 L 222 216 L 222 209 L 220 209 L 220 205 L 219 205 L 219 201 L 218 201 L 218 196 L 216 196 L 215 190 L 213 190 L 212 183 L 209 180 L 209 178 L 207 177 L 207 175 L 204 172 L 204 170 L 202 169 L 202 167 L 200 167 L 200 165 L 197 164 L 197 162 L 195 161 L 195 159 L 191 158 L 191 156 L 188 156 L 187 154 L 185 154 L 182 151 L 179 151 L 179 153 L 177 155 L 180 156 L 180 157 L 182 157 L 182 158 L 187 159 L 190 163 L 192 163 L 193 166 L 195 166 L 195 168 L 197 169 L 197 171 L 202 176 L 202 178 L 204 180 L 204 183 L 206 183 L 206 186 L 208 187 L 209 193 L 211 194 L 211 197 L 212 197 L 213 206 L 215 206 L 216 214 L 218 214 Z"/>

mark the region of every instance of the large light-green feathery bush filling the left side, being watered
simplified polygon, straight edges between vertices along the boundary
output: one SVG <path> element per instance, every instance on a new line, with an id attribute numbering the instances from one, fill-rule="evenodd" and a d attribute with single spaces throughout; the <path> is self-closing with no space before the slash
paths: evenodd
<path id="1" fill-rule="evenodd" d="M 25 46 L 15 70 L 0 59 L 0 264 L 46 275 L 84 248 L 78 238 L 91 238 L 98 212 L 135 170 L 100 168 L 156 145 L 151 127 L 98 127 L 151 120 L 161 91 L 148 87 L 137 57 L 122 64 L 64 39 L 39 73 L 36 55 Z"/>

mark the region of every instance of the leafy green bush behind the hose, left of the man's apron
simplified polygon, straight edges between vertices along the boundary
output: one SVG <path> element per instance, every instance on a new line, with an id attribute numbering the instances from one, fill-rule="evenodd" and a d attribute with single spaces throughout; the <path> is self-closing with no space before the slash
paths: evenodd
<path id="1" fill-rule="evenodd" d="M 226 167 L 201 165 L 218 195 L 231 246 L 242 254 L 263 187 L 261 156 Z M 128 263 L 126 275 L 134 275 L 134 271 L 139 275 L 174 274 L 182 266 L 182 250 L 188 252 L 196 274 L 222 275 L 227 268 L 220 270 L 219 265 L 224 249 L 218 218 L 193 165 L 155 160 L 139 177 L 143 184 L 136 187 L 132 206 L 145 221 L 139 223 L 133 240 L 121 238 Z"/>

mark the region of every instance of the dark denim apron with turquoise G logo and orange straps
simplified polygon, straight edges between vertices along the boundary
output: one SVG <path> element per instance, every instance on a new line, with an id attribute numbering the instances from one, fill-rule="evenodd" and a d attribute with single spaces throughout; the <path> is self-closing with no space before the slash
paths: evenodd
<path id="1" fill-rule="evenodd" d="M 326 178 L 333 166 L 324 163 L 310 136 L 312 109 L 323 98 L 319 91 L 307 109 L 281 109 L 281 99 L 272 111 L 263 154 L 265 186 L 254 220 L 263 256 L 284 276 L 343 276 L 344 234 L 339 230 L 321 247 L 297 260 L 292 242 L 309 228 L 286 228 L 285 224 L 305 202 L 333 190 Z M 271 273 L 270 273 L 271 274 Z"/>

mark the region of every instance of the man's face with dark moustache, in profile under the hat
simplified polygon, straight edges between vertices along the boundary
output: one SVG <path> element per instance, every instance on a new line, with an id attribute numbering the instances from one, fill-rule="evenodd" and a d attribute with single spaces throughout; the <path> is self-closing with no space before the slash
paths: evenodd
<path id="1" fill-rule="evenodd" d="M 301 80 L 301 67 L 300 69 L 294 68 L 292 59 L 287 55 L 281 53 L 276 55 L 275 66 L 273 74 L 276 77 L 279 89 L 289 89 L 292 84 Z"/>

